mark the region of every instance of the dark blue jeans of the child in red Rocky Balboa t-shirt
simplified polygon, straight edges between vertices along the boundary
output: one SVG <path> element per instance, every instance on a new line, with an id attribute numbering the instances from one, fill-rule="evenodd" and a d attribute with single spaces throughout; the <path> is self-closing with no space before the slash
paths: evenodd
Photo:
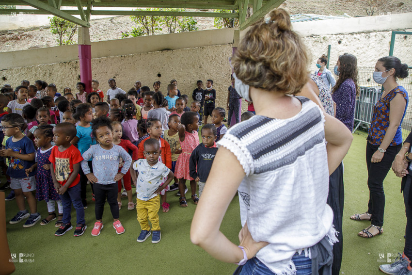
<path id="1" fill-rule="evenodd" d="M 63 223 L 69 224 L 72 216 L 72 202 L 73 206 L 76 209 L 76 218 L 78 225 L 85 225 L 86 221 L 84 219 L 84 209 L 83 203 L 81 202 L 80 195 L 80 183 L 76 184 L 73 187 L 67 188 L 67 191 L 63 195 L 59 195 L 63 204 Z"/>

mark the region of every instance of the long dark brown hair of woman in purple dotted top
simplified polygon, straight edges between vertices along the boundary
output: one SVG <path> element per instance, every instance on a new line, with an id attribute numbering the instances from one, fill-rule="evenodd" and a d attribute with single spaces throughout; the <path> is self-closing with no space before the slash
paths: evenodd
<path id="1" fill-rule="evenodd" d="M 356 59 L 356 56 L 350 53 L 344 53 L 339 55 L 338 60 L 340 62 L 339 78 L 336 81 L 336 85 L 333 87 L 332 94 L 339 89 L 343 81 L 350 78 L 355 83 L 356 96 L 359 96 L 360 88 L 358 85 L 358 60 Z"/>

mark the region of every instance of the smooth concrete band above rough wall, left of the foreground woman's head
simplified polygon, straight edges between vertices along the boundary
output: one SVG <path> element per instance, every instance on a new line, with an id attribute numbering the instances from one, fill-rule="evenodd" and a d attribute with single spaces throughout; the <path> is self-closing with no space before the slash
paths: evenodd
<path id="1" fill-rule="evenodd" d="M 93 42 L 92 58 L 232 44 L 234 32 L 221 29 Z M 0 68 L 69 62 L 78 60 L 78 54 L 77 45 L 0 52 Z"/>

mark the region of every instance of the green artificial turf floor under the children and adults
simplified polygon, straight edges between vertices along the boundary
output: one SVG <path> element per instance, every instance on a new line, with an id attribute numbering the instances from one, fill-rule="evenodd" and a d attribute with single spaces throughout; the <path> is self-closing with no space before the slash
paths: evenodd
<path id="1" fill-rule="evenodd" d="M 384 182 L 386 209 L 383 235 L 372 239 L 358 237 L 357 232 L 369 223 L 349 219 L 351 214 L 367 210 L 369 193 L 366 185 L 365 145 L 365 138 L 355 134 L 344 160 L 344 252 L 341 273 L 346 275 L 383 274 L 378 267 L 384 262 L 378 260 L 387 260 L 388 253 L 402 252 L 404 245 L 405 209 L 402 194 L 399 193 L 400 179 L 392 171 Z M 187 185 L 190 189 L 189 182 Z M 175 193 L 168 192 L 170 211 L 159 211 L 162 239 L 157 244 L 151 243 L 150 237 L 144 243 L 136 242 L 141 228 L 136 220 L 136 210 L 127 210 L 126 198 L 123 199 L 125 206 L 120 210 L 120 220 L 126 229 L 122 235 L 115 233 L 110 208 L 106 204 L 104 228 L 99 236 L 91 236 L 95 214 L 94 203 L 90 198 L 89 208 L 85 210 L 88 228 L 80 237 L 73 237 L 74 229 L 64 236 L 55 237 L 57 228 L 54 227 L 54 221 L 46 226 L 38 223 L 31 228 L 23 228 L 23 223 L 7 223 L 11 253 L 16 253 L 17 258 L 19 253 L 34 254 L 32 263 L 15 263 L 15 274 L 232 274 L 236 265 L 215 260 L 190 243 L 190 223 L 196 206 L 190 200 L 190 191 L 187 194 L 187 208 L 179 206 Z M 38 203 L 38 210 L 44 217 L 47 216 L 44 201 Z M 16 212 L 16 202 L 6 202 L 6 220 L 10 220 Z M 72 223 L 76 223 L 74 210 Z M 232 242 L 238 243 L 238 196 L 230 204 L 221 230 Z M 383 254 L 384 259 L 379 259 L 379 254 Z M 390 259 L 395 258 L 390 256 Z"/>

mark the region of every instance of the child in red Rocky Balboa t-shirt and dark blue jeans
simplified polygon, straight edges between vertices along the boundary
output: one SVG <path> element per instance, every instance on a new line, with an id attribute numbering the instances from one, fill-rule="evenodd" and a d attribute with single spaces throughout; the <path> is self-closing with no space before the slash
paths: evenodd
<path id="1" fill-rule="evenodd" d="M 77 226 L 73 235 L 83 235 L 87 227 L 79 184 L 79 168 L 83 158 L 79 149 L 70 144 L 76 133 L 76 127 L 68 122 L 60 123 L 53 129 L 53 141 L 56 146 L 51 149 L 49 157 L 51 178 L 63 204 L 63 225 L 54 233 L 55 236 L 62 236 L 73 228 L 70 222 L 72 203 L 77 216 Z"/>

